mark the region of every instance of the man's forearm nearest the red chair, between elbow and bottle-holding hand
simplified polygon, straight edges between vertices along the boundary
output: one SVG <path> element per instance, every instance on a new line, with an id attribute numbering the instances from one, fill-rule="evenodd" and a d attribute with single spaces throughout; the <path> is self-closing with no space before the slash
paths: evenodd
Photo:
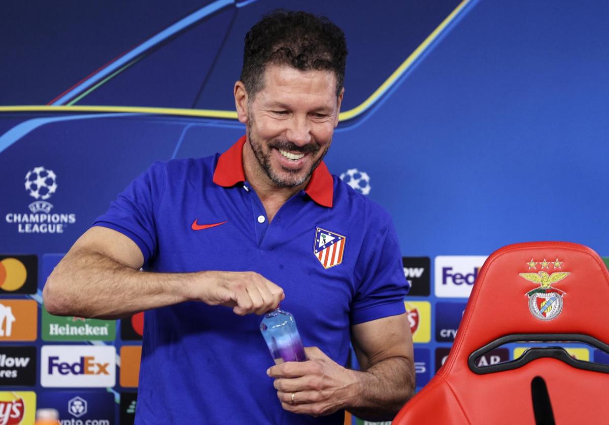
<path id="1" fill-rule="evenodd" d="M 390 357 L 366 371 L 353 372 L 357 391 L 345 409 L 358 418 L 390 421 L 414 395 L 414 365 L 405 357 Z"/>

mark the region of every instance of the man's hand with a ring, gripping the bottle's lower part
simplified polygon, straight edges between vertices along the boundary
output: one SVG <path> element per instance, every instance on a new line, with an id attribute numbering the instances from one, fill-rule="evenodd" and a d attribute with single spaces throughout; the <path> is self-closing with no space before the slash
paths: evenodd
<path id="1" fill-rule="evenodd" d="M 317 347 L 306 347 L 306 362 L 286 362 L 269 368 L 281 407 L 292 413 L 329 415 L 357 394 L 353 370 L 343 368 Z"/>

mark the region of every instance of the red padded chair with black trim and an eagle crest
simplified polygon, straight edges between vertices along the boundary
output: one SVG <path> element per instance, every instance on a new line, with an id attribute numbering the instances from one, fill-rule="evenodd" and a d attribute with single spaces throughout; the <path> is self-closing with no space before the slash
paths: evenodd
<path id="1" fill-rule="evenodd" d="M 609 273 L 600 257 L 566 242 L 501 248 L 480 270 L 445 364 L 393 424 L 609 424 L 609 365 L 552 346 L 575 341 L 609 354 Z M 510 342 L 547 346 L 477 366 Z"/>

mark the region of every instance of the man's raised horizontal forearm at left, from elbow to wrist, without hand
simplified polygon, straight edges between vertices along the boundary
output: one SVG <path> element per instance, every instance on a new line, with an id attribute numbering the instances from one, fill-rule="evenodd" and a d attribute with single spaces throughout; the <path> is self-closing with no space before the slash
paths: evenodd
<path id="1" fill-rule="evenodd" d="M 147 273 L 96 251 L 68 253 L 44 286 L 51 314 L 121 318 L 186 301 L 180 281 L 194 273 Z"/>

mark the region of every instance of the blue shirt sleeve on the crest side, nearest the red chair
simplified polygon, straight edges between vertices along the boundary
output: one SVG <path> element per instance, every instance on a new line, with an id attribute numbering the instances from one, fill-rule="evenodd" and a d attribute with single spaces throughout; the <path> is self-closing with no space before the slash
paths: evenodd
<path id="1" fill-rule="evenodd" d="M 351 325 L 406 312 L 410 285 L 404 276 L 400 245 L 390 219 L 364 258 L 361 286 L 351 303 Z"/>

